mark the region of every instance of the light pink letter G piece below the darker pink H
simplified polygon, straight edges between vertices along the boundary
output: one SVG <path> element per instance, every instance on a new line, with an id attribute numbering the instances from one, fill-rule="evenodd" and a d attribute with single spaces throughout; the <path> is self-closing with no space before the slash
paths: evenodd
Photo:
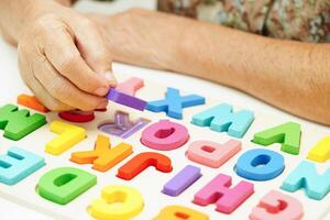
<path id="1" fill-rule="evenodd" d="M 299 200 L 280 191 L 272 190 L 253 208 L 251 220 L 300 220 L 304 216 Z"/>

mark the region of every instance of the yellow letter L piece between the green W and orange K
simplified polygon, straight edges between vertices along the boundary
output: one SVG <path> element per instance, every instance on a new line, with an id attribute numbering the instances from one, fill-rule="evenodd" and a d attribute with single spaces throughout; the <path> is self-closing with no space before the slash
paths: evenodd
<path id="1" fill-rule="evenodd" d="M 45 151 L 52 155 L 62 154 L 86 138 L 85 129 L 62 121 L 53 121 L 51 131 L 59 134 L 46 144 Z"/>

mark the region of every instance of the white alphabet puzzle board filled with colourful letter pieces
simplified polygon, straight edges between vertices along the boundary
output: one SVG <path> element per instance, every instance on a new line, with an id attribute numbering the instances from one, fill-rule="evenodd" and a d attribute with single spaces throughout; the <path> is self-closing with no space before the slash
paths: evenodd
<path id="1" fill-rule="evenodd" d="M 110 102 L 87 123 L 1 103 L 1 197 L 55 219 L 327 218 L 329 129 L 134 80 L 148 110 Z"/>

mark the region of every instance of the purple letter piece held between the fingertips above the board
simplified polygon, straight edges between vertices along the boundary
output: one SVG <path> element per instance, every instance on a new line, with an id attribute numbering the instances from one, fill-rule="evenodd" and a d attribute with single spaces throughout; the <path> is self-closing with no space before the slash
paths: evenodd
<path id="1" fill-rule="evenodd" d="M 136 97 L 120 92 L 113 88 L 110 89 L 107 98 L 117 103 L 143 111 L 146 106 L 146 101 L 139 99 Z"/>

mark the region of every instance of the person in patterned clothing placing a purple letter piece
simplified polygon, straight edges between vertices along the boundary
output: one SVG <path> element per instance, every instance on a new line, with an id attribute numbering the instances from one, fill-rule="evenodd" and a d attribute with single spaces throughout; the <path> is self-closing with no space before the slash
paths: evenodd
<path id="1" fill-rule="evenodd" d="M 160 0 L 170 13 L 117 15 L 81 14 L 72 3 L 0 0 L 2 35 L 52 110 L 106 107 L 118 61 L 223 84 L 330 124 L 328 0 Z"/>

